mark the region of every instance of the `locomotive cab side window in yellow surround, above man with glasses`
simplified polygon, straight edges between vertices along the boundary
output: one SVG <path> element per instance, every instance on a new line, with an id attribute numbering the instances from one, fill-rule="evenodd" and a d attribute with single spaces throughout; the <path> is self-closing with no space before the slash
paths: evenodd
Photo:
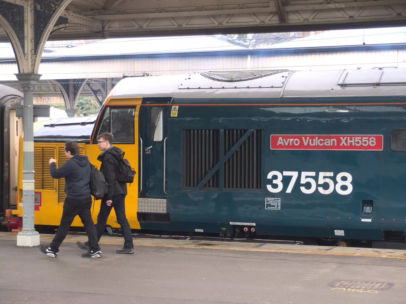
<path id="1" fill-rule="evenodd" d="M 135 108 L 106 108 L 99 134 L 108 132 L 114 143 L 134 144 Z"/>

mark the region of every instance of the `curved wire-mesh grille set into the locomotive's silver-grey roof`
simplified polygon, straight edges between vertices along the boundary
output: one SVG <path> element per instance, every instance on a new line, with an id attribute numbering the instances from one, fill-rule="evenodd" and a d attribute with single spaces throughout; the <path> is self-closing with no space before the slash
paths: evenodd
<path id="1" fill-rule="evenodd" d="M 231 81 L 251 80 L 287 71 L 289 70 L 220 71 L 220 72 L 202 72 L 201 75 L 211 80 L 231 82 Z"/>

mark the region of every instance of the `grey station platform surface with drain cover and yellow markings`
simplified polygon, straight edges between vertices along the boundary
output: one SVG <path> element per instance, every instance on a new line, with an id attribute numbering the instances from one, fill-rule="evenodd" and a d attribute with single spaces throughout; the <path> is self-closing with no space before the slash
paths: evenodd
<path id="1" fill-rule="evenodd" d="M 54 235 L 41 235 L 41 244 Z M 102 237 L 83 259 L 68 235 L 58 258 L 0 233 L 0 303 L 400 304 L 404 250 L 134 237 Z"/>

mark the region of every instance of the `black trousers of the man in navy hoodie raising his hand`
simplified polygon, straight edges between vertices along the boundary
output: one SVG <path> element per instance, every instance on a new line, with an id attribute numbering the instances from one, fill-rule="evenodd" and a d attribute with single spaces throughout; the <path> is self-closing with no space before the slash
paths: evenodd
<path id="1" fill-rule="evenodd" d="M 97 240 L 96 227 L 93 223 L 92 215 L 90 212 L 91 207 L 91 197 L 84 199 L 75 199 L 69 197 L 65 198 L 62 218 L 60 219 L 60 225 L 50 245 L 53 251 L 59 251 L 59 246 L 60 244 L 62 244 L 63 240 L 68 234 L 69 227 L 71 226 L 75 216 L 79 216 L 80 220 L 82 221 L 87 237 L 89 237 L 90 249 L 93 251 L 100 250 L 99 242 Z"/>

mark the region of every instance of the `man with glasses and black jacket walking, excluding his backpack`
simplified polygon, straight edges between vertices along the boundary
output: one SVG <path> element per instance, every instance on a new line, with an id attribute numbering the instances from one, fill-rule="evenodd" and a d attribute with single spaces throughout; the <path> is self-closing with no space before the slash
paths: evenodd
<path id="1" fill-rule="evenodd" d="M 125 216 L 125 196 L 127 195 L 127 184 L 125 182 L 118 181 L 116 178 L 117 168 L 119 166 L 119 160 L 121 153 L 120 148 L 113 147 L 112 143 L 114 136 L 111 133 L 103 133 L 97 137 L 97 146 L 99 146 L 100 155 L 97 160 L 102 162 L 100 171 L 104 174 L 104 179 L 108 183 L 108 192 L 100 203 L 100 211 L 97 215 L 97 237 L 102 237 L 104 230 L 106 229 L 107 218 L 112 208 L 116 212 L 117 222 L 121 226 L 121 230 L 124 235 L 124 247 L 123 249 L 117 249 L 117 253 L 134 253 L 134 244 L 132 241 L 132 234 L 130 224 Z M 89 242 L 76 243 L 80 249 L 89 250 Z"/>

